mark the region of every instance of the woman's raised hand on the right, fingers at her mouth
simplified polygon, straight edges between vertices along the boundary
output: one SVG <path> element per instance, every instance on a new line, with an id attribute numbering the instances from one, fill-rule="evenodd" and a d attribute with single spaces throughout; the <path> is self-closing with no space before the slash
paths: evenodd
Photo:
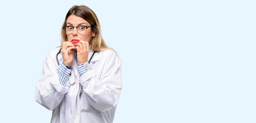
<path id="1" fill-rule="evenodd" d="M 88 61 L 89 43 L 80 40 L 80 42 L 76 44 L 76 50 L 78 65 L 86 63 Z"/>

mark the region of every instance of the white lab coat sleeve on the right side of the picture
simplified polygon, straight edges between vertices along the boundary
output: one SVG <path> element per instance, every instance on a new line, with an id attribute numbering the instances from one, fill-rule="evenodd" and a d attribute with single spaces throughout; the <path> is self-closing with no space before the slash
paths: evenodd
<path id="1" fill-rule="evenodd" d="M 119 57 L 113 51 L 103 55 L 105 62 L 102 64 L 101 76 L 96 76 L 97 71 L 92 68 L 79 79 L 87 94 L 88 102 L 94 109 L 101 112 L 108 111 L 117 105 L 122 90 Z"/>

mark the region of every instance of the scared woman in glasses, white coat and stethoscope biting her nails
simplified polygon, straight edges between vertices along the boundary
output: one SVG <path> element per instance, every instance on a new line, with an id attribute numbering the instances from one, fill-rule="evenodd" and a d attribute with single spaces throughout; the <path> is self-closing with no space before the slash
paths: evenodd
<path id="1" fill-rule="evenodd" d="M 122 89 L 121 61 L 104 43 L 90 8 L 68 11 L 61 47 L 47 54 L 36 101 L 52 110 L 51 122 L 113 122 Z"/>

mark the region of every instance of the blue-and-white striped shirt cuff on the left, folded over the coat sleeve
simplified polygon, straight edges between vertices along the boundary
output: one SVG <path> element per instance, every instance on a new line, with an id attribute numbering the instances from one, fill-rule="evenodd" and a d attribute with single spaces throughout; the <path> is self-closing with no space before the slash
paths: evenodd
<path id="1" fill-rule="evenodd" d="M 63 63 L 57 68 L 58 80 L 62 86 L 66 86 L 71 69 L 68 69 Z"/>

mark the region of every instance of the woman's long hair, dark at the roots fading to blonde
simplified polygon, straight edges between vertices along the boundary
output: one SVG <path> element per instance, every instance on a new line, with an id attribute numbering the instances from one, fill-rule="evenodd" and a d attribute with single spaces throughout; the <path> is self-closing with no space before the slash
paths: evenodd
<path id="1" fill-rule="evenodd" d="M 73 6 L 68 11 L 62 27 L 65 27 L 67 25 L 67 18 L 72 14 L 82 17 L 88 23 L 91 24 L 91 30 L 93 32 L 95 32 L 95 36 L 92 37 L 92 40 L 90 43 L 92 50 L 99 52 L 101 50 L 110 49 L 107 47 L 106 43 L 104 42 L 104 40 L 102 38 L 100 22 L 96 16 L 96 14 L 89 7 L 84 6 L 84 5 L 83 6 Z M 64 30 L 62 30 L 62 43 L 67 42 L 67 41 L 68 41 L 67 34 L 65 33 Z"/>

